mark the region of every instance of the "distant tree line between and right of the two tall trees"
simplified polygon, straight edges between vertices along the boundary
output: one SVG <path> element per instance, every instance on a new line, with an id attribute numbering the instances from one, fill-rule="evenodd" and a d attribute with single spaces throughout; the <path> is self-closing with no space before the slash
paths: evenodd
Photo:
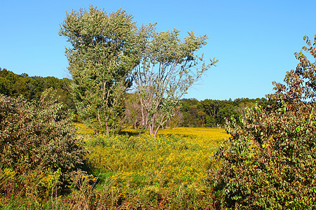
<path id="1" fill-rule="evenodd" d="M 181 99 L 176 106 L 173 117 L 162 127 L 223 127 L 226 120 L 239 119 L 246 113 L 246 109 L 258 104 L 267 106 L 265 98 L 249 99 Z M 135 94 L 129 94 L 126 98 L 126 123 L 135 129 L 143 127 L 144 122 L 141 105 Z"/>

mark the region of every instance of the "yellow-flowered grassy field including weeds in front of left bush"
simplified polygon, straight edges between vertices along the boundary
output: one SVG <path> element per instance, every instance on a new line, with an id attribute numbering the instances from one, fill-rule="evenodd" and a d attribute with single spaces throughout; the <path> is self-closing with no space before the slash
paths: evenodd
<path id="1" fill-rule="evenodd" d="M 229 137 L 225 130 L 178 127 L 159 130 L 153 139 L 139 130 L 110 137 L 84 124 L 77 128 L 90 175 L 73 176 L 64 195 L 55 188 L 58 174 L 20 176 L 25 186 L 16 192 L 25 193 L 0 194 L 0 209 L 214 209 L 206 178 L 211 155 Z M 0 186 L 15 186 L 13 177 L 13 170 L 1 172 Z"/>

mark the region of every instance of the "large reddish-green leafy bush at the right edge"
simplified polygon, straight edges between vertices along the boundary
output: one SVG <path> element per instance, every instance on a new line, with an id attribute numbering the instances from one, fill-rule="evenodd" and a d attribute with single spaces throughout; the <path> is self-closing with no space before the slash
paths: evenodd
<path id="1" fill-rule="evenodd" d="M 316 57 L 314 47 L 303 50 Z M 275 83 L 270 105 L 254 106 L 227 126 L 232 137 L 218 149 L 209 179 L 228 209 L 316 208 L 315 62 L 303 52 L 287 85 Z M 308 100 L 308 101 L 306 101 Z"/>

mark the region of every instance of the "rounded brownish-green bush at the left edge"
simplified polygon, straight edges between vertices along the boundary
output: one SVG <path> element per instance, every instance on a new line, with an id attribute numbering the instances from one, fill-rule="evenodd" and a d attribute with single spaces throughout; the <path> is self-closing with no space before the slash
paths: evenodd
<path id="1" fill-rule="evenodd" d="M 52 89 L 39 102 L 0 95 L 1 195 L 47 197 L 82 168 L 85 151 L 57 101 Z"/>

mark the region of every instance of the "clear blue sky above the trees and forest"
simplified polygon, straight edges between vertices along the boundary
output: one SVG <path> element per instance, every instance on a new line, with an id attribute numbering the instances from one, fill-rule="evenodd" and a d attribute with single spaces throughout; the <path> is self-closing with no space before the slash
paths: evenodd
<path id="1" fill-rule="evenodd" d="M 29 76 L 70 77 L 65 37 L 58 36 L 66 11 L 122 8 L 140 26 L 180 29 L 209 36 L 204 57 L 213 67 L 185 95 L 196 99 L 264 97 L 298 63 L 303 36 L 316 34 L 316 1 L 15 1 L 0 0 L 0 67 Z"/>

